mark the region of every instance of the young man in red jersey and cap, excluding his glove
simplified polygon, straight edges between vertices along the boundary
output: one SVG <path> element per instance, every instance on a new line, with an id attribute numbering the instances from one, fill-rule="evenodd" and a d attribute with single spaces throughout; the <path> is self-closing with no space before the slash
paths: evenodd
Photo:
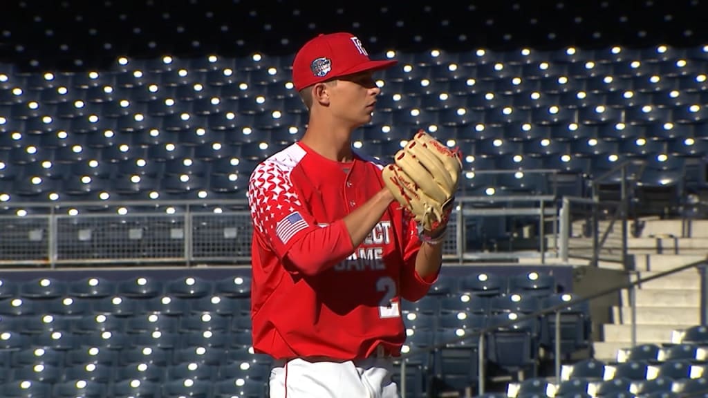
<path id="1" fill-rule="evenodd" d="M 307 42 L 292 69 L 307 131 L 251 174 L 253 348 L 276 360 L 272 398 L 398 397 L 399 303 L 435 282 L 441 239 L 421 243 L 383 166 L 350 141 L 371 120 L 373 73 L 395 63 L 371 60 L 350 33 Z"/>

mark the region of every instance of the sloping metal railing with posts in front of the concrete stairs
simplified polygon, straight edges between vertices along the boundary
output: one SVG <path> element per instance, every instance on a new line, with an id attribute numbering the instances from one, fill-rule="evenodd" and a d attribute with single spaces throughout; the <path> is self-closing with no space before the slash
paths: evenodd
<path id="1" fill-rule="evenodd" d="M 697 273 L 700 275 L 700 282 L 701 282 L 701 302 L 700 302 L 700 319 L 702 324 L 706 324 L 708 322 L 708 260 L 703 260 L 703 261 L 696 261 L 693 263 L 685 264 L 683 266 L 678 266 L 676 268 L 673 268 L 668 271 L 663 271 L 661 273 L 656 273 L 655 275 L 651 275 L 646 278 L 639 278 L 636 279 L 630 283 L 625 283 L 624 285 L 619 285 L 613 288 L 607 288 L 605 290 L 600 290 L 598 292 L 595 292 L 592 295 L 587 295 L 585 297 L 576 297 L 574 300 L 570 300 L 569 302 L 563 302 L 562 304 L 555 305 L 553 307 L 547 307 L 544 309 L 540 309 L 537 312 L 533 312 L 531 314 L 519 314 L 519 316 L 516 319 L 510 320 L 508 322 L 503 322 L 499 324 L 495 324 L 493 326 L 486 326 L 482 329 L 472 331 L 469 334 L 465 334 L 464 336 L 460 336 L 457 339 L 450 339 L 449 341 L 443 341 L 442 343 L 435 344 L 433 346 L 427 347 L 427 348 L 421 348 L 419 350 L 415 351 L 409 351 L 408 353 L 403 353 L 401 354 L 401 357 L 398 358 L 399 360 L 399 367 L 400 367 L 400 372 L 401 372 L 401 397 L 406 398 L 406 359 L 411 358 L 413 356 L 420 356 L 421 353 L 425 354 L 432 354 L 436 351 L 440 351 L 444 348 L 447 348 L 448 346 L 454 346 L 457 343 L 461 343 L 462 341 L 469 341 L 472 339 L 477 339 L 477 360 L 479 361 L 478 365 L 478 373 L 477 373 L 477 394 L 481 395 L 486 392 L 486 368 L 485 368 L 485 363 L 486 363 L 486 351 L 485 351 L 485 339 L 489 334 L 492 334 L 494 331 L 501 329 L 501 328 L 506 328 L 509 326 L 513 326 L 514 324 L 519 324 L 520 322 L 525 322 L 529 320 L 534 320 L 538 319 L 539 317 L 542 317 L 547 314 L 554 314 L 555 315 L 555 321 L 554 321 L 554 329 L 555 329 L 555 334 L 556 339 L 554 341 L 554 372 L 555 372 L 555 377 L 556 377 L 556 384 L 561 382 L 561 339 L 559 339 L 560 334 L 560 319 L 561 319 L 561 312 L 562 309 L 566 307 L 574 307 L 578 304 L 581 304 L 583 302 L 590 302 L 592 300 L 598 299 L 600 297 L 606 296 L 606 295 L 612 295 L 612 294 L 619 294 L 622 290 L 634 290 L 635 288 L 639 287 L 643 283 L 647 283 L 651 280 L 656 280 L 660 278 L 664 278 L 668 275 L 673 275 L 675 273 L 679 273 L 682 271 L 687 271 L 691 268 L 697 268 Z M 474 300 L 474 298 L 472 299 Z M 636 302 L 634 302 L 634 299 L 630 299 L 630 305 L 632 307 L 636 307 Z M 632 329 L 633 329 L 633 334 L 636 334 L 636 322 L 634 322 L 636 319 L 632 320 Z M 631 346 L 634 347 L 636 346 L 636 340 L 633 339 Z M 471 392 L 467 392 L 468 396 L 472 396 Z"/>

